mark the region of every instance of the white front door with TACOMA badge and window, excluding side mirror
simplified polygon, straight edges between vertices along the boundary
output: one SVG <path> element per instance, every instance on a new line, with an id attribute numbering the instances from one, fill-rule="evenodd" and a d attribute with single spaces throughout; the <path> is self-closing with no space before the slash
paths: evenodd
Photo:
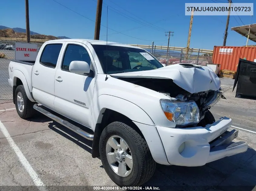
<path id="1" fill-rule="evenodd" d="M 58 113 L 85 126 L 91 126 L 91 106 L 96 77 L 69 71 L 70 62 L 85 61 L 93 67 L 92 55 L 82 43 L 67 43 L 55 74 L 54 107 Z"/>

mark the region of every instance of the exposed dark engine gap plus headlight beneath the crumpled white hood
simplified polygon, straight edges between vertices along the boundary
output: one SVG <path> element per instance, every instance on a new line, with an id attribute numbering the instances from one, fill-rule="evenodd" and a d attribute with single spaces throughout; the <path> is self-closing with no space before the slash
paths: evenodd
<path id="1" fill-rule="evenodd" d="M 164 94 L 168 99 L 160 100 L 162 110 L 177 127 L 192 127 L 204 119 L 205 113 L 221 98 L 219 90 L 208 90 L 190 93 L 179 87 L 171 79 L 119 78 L 130 83 Z"/>

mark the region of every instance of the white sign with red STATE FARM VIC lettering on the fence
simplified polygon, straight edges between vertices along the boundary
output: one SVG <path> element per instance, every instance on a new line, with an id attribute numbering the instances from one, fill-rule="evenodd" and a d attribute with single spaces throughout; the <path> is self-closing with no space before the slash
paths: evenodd
<path id="1" fill-rule="evenodd" d="M 35 61 L 37 56 L 37 44 L 15 43 L 15 60 Z"/>

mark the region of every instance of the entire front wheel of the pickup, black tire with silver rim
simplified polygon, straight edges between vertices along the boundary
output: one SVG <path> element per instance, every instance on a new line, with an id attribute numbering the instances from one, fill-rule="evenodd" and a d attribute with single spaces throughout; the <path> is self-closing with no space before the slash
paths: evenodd
<path id="1" fill-rule="evenodd" d="M 147 142 L 125 123 L 106 126 L 99 144 L 103 167 L 118 186 L 140 186 L 154 174 L 156 163 Z"/>

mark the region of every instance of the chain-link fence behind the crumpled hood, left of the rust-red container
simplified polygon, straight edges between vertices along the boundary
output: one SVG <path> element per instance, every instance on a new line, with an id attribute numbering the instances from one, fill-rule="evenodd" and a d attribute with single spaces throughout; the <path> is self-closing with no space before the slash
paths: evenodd
<path id="1" fill-rule="evenodd" d="M 196 65 L 206 65 L 208 64 L 208 59 L 211 57 L 208 54 L 200 53 L 198 51 L 189 51 L 188 53 L 185 49 L 181 51 L 167 51 L 154 50 L 153 55 L 162 63 L 166 65 L 178 64 L 178 63 L 191 63 Z"/>

